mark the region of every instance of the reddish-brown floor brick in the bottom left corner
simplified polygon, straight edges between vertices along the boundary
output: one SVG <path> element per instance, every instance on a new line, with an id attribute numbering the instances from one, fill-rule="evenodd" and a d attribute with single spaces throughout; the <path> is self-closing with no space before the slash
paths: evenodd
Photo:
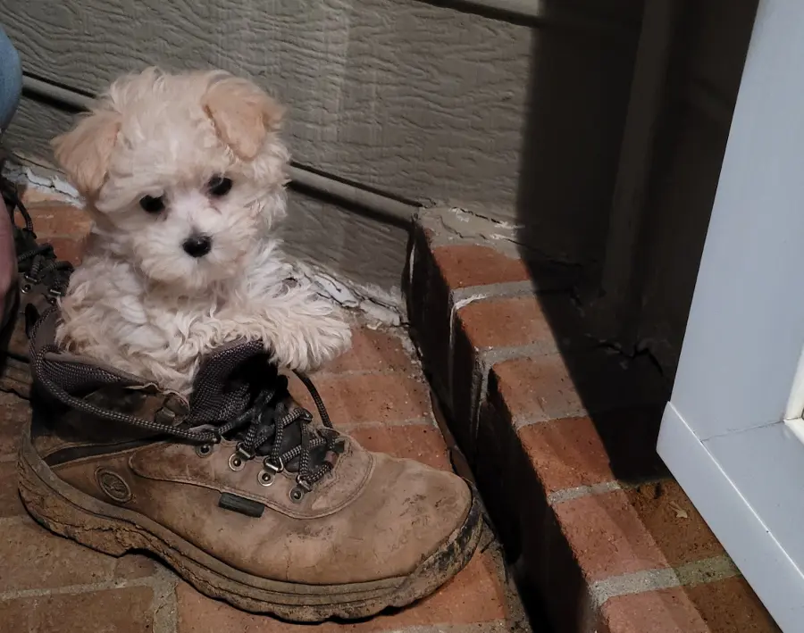
<path id="1" fill-rule="evenodd" d="M 0 621 L 20 633 L 143 633 L 154 626 L 153 599 L 150 587 L 18 598 L 0 602 Z"/>

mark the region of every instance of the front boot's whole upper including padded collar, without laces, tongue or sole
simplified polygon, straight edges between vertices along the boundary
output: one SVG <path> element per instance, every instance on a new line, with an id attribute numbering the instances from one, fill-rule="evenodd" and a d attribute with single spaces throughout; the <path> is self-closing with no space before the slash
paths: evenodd
<path id="1" fill-rule="evenodd" d="M 195 414 L 194 406 L 205 407 L 207 421 L 212 412 L 237 410 L 235 387 L 216 393 L 207 386 L 187 403 L 108 368 L 75 371 L 88 361 L 52 349 L 39 354 L 47 330 L 38 327 L 35 336 L 35 375 L 61 380 L 59 388 L 82 402 L 178 426 Z M 223 373 L 212 365 L 199 371 L 225 382 Z M 294 500 L 294 472 L 281 471 L 264 486 L 259 457 L 233 470 L 234 440 L 202 451 L 77 411 L 43 391 L 34 399 L 32 442 L 57 477 L 261 578 L 318 585 L 405 576 L 462 527 L 472 505 L 470 488 L 453 473 L 370 453 L 349 437 L 331 472 Z M 252 512 L 222 507 L 227 495 Z"/>

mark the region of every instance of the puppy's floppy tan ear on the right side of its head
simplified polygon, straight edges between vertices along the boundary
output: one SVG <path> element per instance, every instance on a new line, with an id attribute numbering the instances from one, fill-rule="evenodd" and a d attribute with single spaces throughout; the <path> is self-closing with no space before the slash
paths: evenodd
<path id="1" fill-rule="evenodd" d="M 244 161 L 259 154 L 265 137 L 281 127 L 285 108 L 247 79 L 217 74 L 201 105 L 221 140 Z"/>

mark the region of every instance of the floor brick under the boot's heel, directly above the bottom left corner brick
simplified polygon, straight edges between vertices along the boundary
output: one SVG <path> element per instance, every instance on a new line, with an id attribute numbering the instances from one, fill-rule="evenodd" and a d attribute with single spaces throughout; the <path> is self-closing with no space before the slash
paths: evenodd
<path id="1" fill-rule="evenodd" d="M 109 579 L 140 578 L 147 564 L 99 554 L 57 537 L 32 521 L 4 527 L 0 543 L 0 592 L 84 585 Z"/>

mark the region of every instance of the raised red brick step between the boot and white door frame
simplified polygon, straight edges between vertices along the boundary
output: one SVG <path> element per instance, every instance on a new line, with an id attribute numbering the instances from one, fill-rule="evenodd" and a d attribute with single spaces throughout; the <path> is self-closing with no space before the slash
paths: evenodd
<path id="1" fill-rule="evenodd" d="M 778 631 L 657 457 L 666 380 L 591 338 L 577 271 L 523 262 L 507 229 L 423 213 L 406 297 L 523 595 L 561 633 Z"/>

